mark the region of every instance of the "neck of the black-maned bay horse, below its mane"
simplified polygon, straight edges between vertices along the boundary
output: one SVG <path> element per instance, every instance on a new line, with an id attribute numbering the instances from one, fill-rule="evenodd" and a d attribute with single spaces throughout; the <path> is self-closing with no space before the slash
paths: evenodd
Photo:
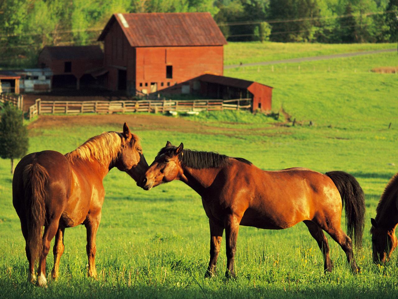
<path id="1" fill-rule="evenodd" d="M 213 184 L 220 170 L 221 167 L 201 169 L 183 167 L 183 175 L 180 177 L 180 180 L 195 190 L 199 195 L 203 196 L 206 189 Z"/>

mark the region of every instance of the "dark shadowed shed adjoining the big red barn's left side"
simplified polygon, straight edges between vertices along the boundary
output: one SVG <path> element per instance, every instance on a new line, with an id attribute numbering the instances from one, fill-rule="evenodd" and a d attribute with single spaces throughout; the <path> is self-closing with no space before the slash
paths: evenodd
<path id="1" fill-rule="evenodd" d="M 53 71 L 53 87 L 76 87 L 94 79 L 90 72 L 103 66 L 103 53 L 98 45 L 44 47 L 39 54 L 40 67 Z"/>

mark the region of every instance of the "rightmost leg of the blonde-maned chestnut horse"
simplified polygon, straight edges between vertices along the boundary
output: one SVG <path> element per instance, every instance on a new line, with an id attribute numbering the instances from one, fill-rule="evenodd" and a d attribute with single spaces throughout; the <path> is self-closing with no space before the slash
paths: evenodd
<path id="1" fill-rule="evenodd" d="M 96 235 L 98 226 L 100 226 L 101 213 L 97 217 L 89 216 L 84 223 L 87 230 L 87 257 L 88 257 L 88 277 L 93 277 L 97 279 L 96 270 Z"/>

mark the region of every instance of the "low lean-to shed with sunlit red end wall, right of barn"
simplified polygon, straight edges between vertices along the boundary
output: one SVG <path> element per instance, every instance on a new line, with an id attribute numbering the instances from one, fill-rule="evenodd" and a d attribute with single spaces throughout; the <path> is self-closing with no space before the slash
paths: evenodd
<path id="1" fill-rule="evenodd" d="M 205 74 L 191 80 L 191 86 L 203 96 L 224 100 L 251 98 L 252 111 L 271 110 L 273 87 L 255 81 Z"/>

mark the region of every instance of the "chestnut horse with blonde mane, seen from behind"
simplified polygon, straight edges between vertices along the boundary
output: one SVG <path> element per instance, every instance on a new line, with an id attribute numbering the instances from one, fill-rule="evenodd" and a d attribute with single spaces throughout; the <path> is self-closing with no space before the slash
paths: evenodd
<path id="1" fill-rule="evenodd" d="M 28 281 L 35 282 L 35 261 L 39 259 L 37 285 L 47 285 L 46 258 L 54 236 L 51 275 L 58 277 L 64 230 L 78 224 L 86 226 L 88 276 L 96 278 L 96 233 L 105 196 L 102 181 L 113 167 L 136 181 L 148 169 L 139 138 L 126 123 L 123 132 L 94 136 L 66 155 L 45 150 L 30 153 L 18 163 L 12 201 L 26 242 Z"/>

